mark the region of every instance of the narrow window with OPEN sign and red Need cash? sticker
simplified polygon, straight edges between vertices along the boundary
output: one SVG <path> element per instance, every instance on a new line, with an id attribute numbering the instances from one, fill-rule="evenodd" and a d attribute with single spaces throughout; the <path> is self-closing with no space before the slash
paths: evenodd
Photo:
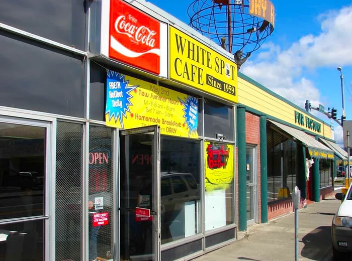
<path id="1" fill-rule="evenodd" d="M 113 252 L 112 128 L 91 126 L 89 138 L 89 260 Z"/>

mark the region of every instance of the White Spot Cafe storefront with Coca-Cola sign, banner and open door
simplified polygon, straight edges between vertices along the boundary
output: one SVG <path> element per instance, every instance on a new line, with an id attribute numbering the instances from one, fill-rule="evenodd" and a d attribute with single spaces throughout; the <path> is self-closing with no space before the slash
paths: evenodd
<path id="1" fill-rule="evenodd" d="M 190 259 L 236 238 L 237 68 L 169 19 L 91 7 L 90 259 Z"/>

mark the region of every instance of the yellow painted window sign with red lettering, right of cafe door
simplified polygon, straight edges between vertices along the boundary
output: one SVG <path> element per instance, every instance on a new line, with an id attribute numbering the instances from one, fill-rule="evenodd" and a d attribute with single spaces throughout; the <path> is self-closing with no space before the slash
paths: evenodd
<path id="1" fill-rule="evenodd" d="M 205 142 L 205 190 L 227 189 L 233 181 L 233 145 Z"/>

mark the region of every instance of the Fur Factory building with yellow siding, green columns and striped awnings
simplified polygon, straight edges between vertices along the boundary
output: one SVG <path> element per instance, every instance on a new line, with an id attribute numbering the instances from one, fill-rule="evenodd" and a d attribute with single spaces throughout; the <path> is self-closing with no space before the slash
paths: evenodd
<path id="1" fill-rule="evenodd" d="M 245 126 L 240 124 L 243 121 Z M 242 73 L 238 75 L 237 132 L 238 158 L 241 153 L 244 157 L 245 147 L 257 148 L 254 160 L 248 161 L 246 155 L 246 161 L 238 161 L 239 179 L 241 173 L 248 173 L 248 162 L 258 166 L 253 179 L 257 189 L 252 194 L 247 191 L 247 213 L 260 202 L 252 210 L 256 222 L 292 212 L 295 186 L 301 191 L 301 207 L 333 195 L 336 161 L 343 152 L 333 141 L 330 124 Z M 246 166 L 241 166 L 244 162 Z M 239 192 L 241 186 L 244 182 Z M 241 208 L 239 213 L 239 229 L 245 230 Z"/>

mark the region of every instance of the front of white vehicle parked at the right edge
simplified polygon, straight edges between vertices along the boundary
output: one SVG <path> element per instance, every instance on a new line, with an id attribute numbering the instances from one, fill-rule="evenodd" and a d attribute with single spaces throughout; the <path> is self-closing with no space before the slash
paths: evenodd
<path id="1" fill-rule="evenodd" d="M 335 194 L 336 199 L 342 200 L 335 216 L 332 219 L 331 238 L 335 260 L 349 260 L 352 253 L 352 186 L 346 196 Z"/>

